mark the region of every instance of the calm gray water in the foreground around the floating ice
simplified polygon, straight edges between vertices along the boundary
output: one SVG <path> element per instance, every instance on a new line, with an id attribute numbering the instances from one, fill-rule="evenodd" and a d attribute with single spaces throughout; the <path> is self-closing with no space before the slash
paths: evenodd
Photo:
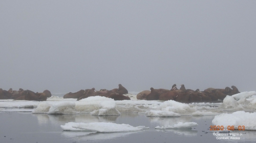
<path id="1" fill-rule="evenodd" d="M 0 142 L 256 142 L 255 131 L 243 133 L 239 140 L 218 140 L 209 126 L 214 116 L 146 117 L 138 113 L 120 116 L 47 115 L 30 112 L 0 112 Z M 95 133 L 62 131 L 60 125 L 68 122 L 112 122 L 132 126 L 150 127 L 148 130 L 124 133 Z M 196 122 L 199 126 L 186 130 L 156 130 L 156 126 L 178 122 Z"/>

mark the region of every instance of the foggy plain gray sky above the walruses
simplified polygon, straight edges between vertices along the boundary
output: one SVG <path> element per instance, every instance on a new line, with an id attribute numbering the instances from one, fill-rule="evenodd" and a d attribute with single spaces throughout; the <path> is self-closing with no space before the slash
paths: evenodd
<path id="1" fill-rule="evenodd" d="M 256 1 L 0 1 L 0 88 L 256 89 Z"/>

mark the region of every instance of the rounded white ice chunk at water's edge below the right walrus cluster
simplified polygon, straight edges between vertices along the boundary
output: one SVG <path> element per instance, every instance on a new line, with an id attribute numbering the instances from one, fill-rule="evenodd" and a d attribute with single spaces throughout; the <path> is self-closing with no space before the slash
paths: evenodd
<path id="1" fill-rule="evenodd" d="M 174 100 L 168 100 L 161 103 L 157 109 L 163 111 L 173 111 L 180 114 L 187 114 L 197 110 L 196 107 L 190 107 L 188 104 L 176 102 Z"/>

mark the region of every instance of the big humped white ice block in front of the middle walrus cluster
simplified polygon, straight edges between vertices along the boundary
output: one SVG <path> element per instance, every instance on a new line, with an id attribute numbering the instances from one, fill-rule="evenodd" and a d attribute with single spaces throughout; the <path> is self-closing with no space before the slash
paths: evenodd
<path id="1" fill-rule="evenodd" d="M 80 101 L 45 101 L 40 102 L 33 113 L 76 114 L 91 112 L 91 115 L 120 115 L 115 108 L 116 102 L 111 98 L 94 96 Z"/>

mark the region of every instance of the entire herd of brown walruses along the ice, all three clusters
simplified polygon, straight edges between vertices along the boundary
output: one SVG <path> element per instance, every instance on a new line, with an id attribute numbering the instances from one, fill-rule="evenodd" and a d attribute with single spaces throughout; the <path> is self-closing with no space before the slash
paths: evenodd
<path id="1" fill-rule="evenodd" d="M 232 89 L 231 89 L 232 88 Z M 193 101 L 217 101 L 223 100 L 227 95 L 234 95 L 240 93 L 234 85 L 231 88 L 226 87 L 225 89 L 215 89 L 208 88 L 203 92 L 199 89 L 196 91 L 186 89 L 184 84 L 181 84 L 180 89 L 177 89 L 176 84 L 172 86 L 172 89 L 154 89 L 150 88 L 150 91 L 142 91 L 137 94 L 137 99 L 139 100 L 175 100 L 181 102 L 193 102 Z M 63 98 L 75 98 L 78 100 L 88 98 L 90 96 L 104 96 L 112 98 L 114 100 L 131 100 L 130 97 L 125 96 L 128 91 L 118 84 L 118 89 L 106 90 L 101 89 L 96 91 L 95 88 L 80 90 L 76 93 L 67 93 Z M 14 100 L 34 100 L 34 101 L 46 101 L 47 98 L 51 97 L 50 91 L 45 90 L 42 93 L 34 93 L 30 90 L 19 89 L 18 91 L 13 91 L 9 89 L 8 91 L 0 89 L 0 99 L 14 99 Z"/>

